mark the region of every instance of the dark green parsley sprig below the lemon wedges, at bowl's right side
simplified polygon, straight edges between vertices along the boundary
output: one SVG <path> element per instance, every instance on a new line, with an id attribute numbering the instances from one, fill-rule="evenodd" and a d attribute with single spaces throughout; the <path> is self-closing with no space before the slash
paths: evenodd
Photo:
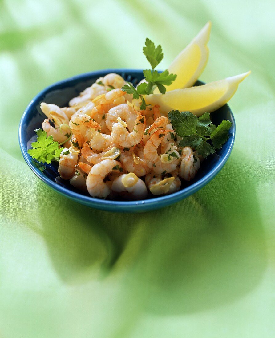
<path id="1" fill-rule="evenodd" d="M 232 125 L 230 121 L 223 120 L 218 126 L 211 123 L 210 114 L 204 113 L 196 117 L 190 112 L 172 110 L 168 118 L 173 129 L 183 139 L 179 142 L 180 147 L 190 146 L 197 150 L 198 155 L 207 157 L 215 152 L 228 139 L 228 131 Z M 209 143 L 211 141 L 212 145 Z"/>

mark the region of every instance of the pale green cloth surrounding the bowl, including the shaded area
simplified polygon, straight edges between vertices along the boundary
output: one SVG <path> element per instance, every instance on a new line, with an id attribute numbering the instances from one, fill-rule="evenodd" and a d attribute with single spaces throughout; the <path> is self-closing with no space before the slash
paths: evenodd
<path id="1" fill-rule="evenodd" d="M 275 336 L 274 1 L 0 0 L 0 337 Z M 209 82 L 252 70 L 230 101 L 236 141 L 203 189 L 115 214 L 27 167 L 18 125 L 64 78 L 167 67 L 212 21 Z"/>

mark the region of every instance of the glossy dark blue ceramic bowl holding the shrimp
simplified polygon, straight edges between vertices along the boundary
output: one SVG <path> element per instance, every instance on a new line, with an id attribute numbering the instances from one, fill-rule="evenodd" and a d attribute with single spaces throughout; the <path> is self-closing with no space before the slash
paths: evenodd
<path id="1" fill-rule="evenodd" d="M 191 182 L 183 182 L 181 190 L 166 196 L 152 197 L 138 201 L 114 201 L 93 198 L 85 195 L 59 177 L 57 165 L 45 165 L 46 169 L 42 172 L 39 164 L 34 161 L 27 153 L 30 148 L 30 139 L 35 134 L 35 129 L 41 128 L 41 123 L 45 115 L 40 109 L 40 103 L 54 103 L 60 107 L 68 105 L 68 101 L 79 95 L 79 92 L 91 86 L 100 76 L 108 73 L 118 73 L 125 80 L 137 84 L 143 78 L 142 70 L 132 69 L 107 69 L 97 72 L 90 72 L 71 77 L 57 82 L 40 92 L 27 106 L 19 125 L 19 144 L 27 165 L 43 182 L 61 195 L 96 209 L 115 211 L 115 212 L 144 212 L 159 209 L 169 204 L 182 200 L 204 187 L 217 173 L 223 168 L 232 151 L 235 139 L 235 120 L 233 114 L 226 104 L 211 114 L 212 123 L 219 124 L 222 120 L 232 122 L 229 130 L 229 139 L 215 154 L 209 156 L 200 167 L 196 177 Z M 197 81 L 196 85 L 203 84 Z"/>

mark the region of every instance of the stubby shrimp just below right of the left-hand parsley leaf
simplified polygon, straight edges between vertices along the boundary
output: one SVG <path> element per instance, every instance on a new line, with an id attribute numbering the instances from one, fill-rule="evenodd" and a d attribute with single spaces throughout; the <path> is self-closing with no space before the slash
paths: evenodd
<path id="1" fill-rule="evenodd" d="M 71 152 L 68 148 L 64 148 L 60 154 L 58 163 L 58 172 L 61 178 L 70 179 L 75 173 L 77 165 L 78 153 Z"/>

